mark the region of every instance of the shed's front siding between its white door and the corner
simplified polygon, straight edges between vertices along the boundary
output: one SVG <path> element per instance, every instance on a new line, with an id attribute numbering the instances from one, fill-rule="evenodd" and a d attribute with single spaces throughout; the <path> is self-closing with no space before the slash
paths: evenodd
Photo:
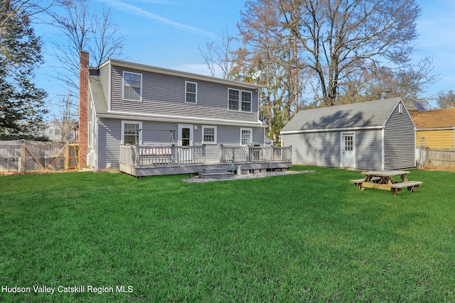
<path id="1" fill-rule="evenodd" d="M 382 170 L 381 136 L 382 129 L 355 131 L 355 168 Z"/>

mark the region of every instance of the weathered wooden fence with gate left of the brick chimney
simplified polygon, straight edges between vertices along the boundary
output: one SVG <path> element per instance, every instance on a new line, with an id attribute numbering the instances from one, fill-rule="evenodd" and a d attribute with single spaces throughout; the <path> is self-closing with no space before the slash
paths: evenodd
<path id="1" fill-rule="evenodd" d="M 78 157 L 78 143 L 0 141 L 0 172 L 75 170 Z"/>

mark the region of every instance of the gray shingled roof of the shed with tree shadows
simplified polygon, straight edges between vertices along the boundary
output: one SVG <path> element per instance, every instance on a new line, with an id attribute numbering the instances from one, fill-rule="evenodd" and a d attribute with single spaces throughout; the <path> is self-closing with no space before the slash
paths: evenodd
<path id="1" fill-rule="evenodd" d="M 392 98 L 299 111 L 282 133 L 381 127 L 400 101 Z"/>

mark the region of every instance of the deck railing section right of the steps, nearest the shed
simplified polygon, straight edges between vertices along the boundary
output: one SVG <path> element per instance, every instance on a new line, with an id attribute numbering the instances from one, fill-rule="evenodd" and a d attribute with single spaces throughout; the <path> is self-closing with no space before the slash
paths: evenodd
<path id="1" fill-rule="evenodd" d="M 291 161 L 291 146 L 220 145 L 220 163 Z"/>

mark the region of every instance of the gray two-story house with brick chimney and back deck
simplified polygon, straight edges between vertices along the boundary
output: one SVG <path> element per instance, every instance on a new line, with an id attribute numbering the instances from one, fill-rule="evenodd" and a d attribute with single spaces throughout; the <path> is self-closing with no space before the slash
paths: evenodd
<path id="1" fill-rule="evenodd" d="M 89 67 L 88 53 L 80 58 L 82 165 L 136 176 L 290 166 L 290 150 L 264 146 L 261 87 L 114 59 Z"/>

